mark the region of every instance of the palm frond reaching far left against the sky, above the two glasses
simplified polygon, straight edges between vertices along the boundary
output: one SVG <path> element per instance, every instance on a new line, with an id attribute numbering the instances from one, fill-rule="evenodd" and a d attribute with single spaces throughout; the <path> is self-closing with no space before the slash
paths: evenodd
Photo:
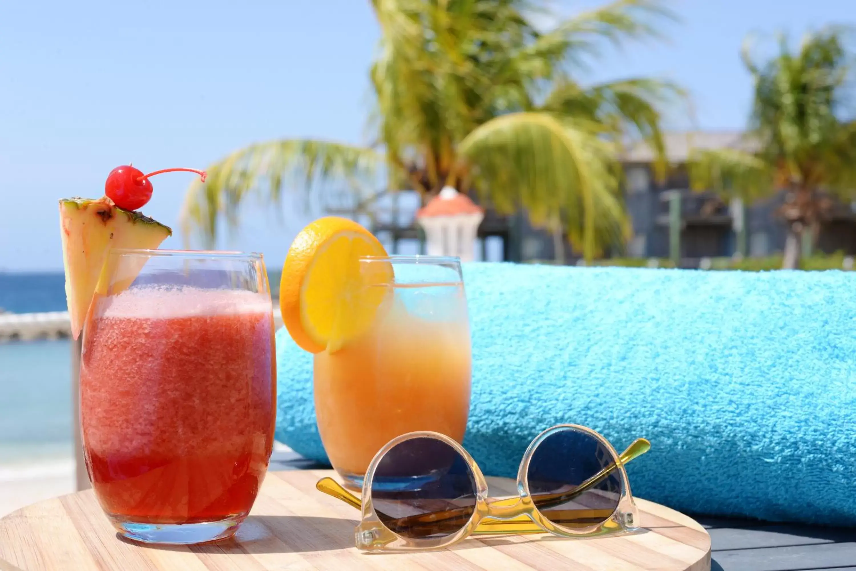
<path id="1" fill-rule="evenodd" d="M 238 223 L 240 205 L 257 194 L 278 204 L 287 182 L 310 196 L 316 182 L 339 181 L 360 190 L 378 163 L 371 149 L 320 140 L 276 140 L 248 146 L 208 167 L 205 182 L 194 181 L 181 209 L 186 239 L 198 232 L 211 246 L 223 218 Z"/>

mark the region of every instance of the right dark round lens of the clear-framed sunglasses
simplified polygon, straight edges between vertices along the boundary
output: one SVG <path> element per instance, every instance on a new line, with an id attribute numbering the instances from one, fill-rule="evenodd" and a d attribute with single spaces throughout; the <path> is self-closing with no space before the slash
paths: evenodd
<path id="1" fill-rule="evenodd" d="M 597 438 L 574 429 L 554 432 L 538 445 L 528 477 L 538 511 L 559 526 L 603 523 L 621 498 L 612 453 Z"/>

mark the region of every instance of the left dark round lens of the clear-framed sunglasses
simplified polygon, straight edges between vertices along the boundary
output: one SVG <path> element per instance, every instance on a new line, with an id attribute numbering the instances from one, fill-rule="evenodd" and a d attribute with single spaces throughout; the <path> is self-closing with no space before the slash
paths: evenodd
<path id="1" fill-rule="evenodd" d="M 466 526 L 476 506 L 467 462 L 435 438 L 411 438 L 390 449 L 372 480 L 383 525 L 406 538 L 442 538 Z"/>

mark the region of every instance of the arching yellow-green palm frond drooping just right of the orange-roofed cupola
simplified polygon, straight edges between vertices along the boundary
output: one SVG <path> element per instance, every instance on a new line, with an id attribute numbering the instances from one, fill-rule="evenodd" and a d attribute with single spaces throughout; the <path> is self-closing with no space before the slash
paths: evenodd
<path id="1" fill-rule="evenodd" d="M 459 150 L 491 205 L 506 212 L 522 206 L 540 226 L 562 212 L 586 259 L 621 239 L 615 149 L 597 136 L 596 125 L 514 113 L 479 126 Z"/>

